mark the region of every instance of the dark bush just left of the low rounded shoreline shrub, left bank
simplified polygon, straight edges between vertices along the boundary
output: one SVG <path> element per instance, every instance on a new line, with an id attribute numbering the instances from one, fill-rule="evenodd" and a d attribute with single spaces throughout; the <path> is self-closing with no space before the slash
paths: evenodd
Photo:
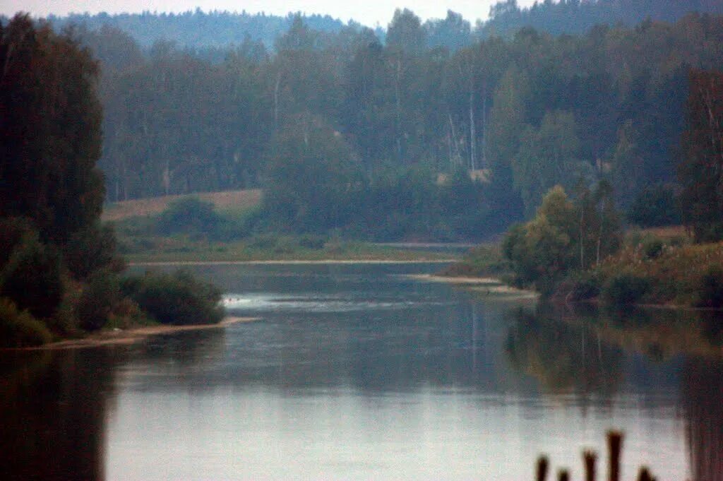
<path id="1" fill-rule="evenodd" d="M 80 327 L 86 331 L 102 328 L 119 302 L 119 297 L 119 281 L 114 273 L 98 271 L 90 276 L 77 304 Z"/>

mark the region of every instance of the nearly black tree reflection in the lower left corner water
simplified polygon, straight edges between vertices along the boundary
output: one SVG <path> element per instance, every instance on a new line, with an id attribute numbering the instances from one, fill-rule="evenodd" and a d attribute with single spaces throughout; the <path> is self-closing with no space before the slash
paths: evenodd
<path id="1" fill-rule="evenodd" d="M 4 353 L 0 367 L 0 477 L 102 480 L 109 349 Z"/>

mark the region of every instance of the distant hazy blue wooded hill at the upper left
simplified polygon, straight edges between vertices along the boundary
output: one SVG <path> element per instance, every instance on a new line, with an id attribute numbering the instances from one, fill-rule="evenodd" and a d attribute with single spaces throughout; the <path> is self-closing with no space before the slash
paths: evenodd
<path id="1" fill-rule="evenodd" d="M 329 15 L 301 17 L 314 30 L 336 33 L 346 24 Z M 222 47 L 231 43 L 240 45 L 247 36 L 252 41 L 262 41 L 267 47 L 273 46 L 276 37 L 286 33 L 294 14 L 286 17 L 247 12 L 194 12 L 173 13 L 132 13 L 132 14 L 70 14 L 67 17 L 48 17 L 56 29 L 69 24 L 85 25 L 88 30 L 98 30 L 103 25 L 117 27 L 129 33 L 142 47 L 149 47 L 155 41 L 176 41 L 179 46 Z"/>

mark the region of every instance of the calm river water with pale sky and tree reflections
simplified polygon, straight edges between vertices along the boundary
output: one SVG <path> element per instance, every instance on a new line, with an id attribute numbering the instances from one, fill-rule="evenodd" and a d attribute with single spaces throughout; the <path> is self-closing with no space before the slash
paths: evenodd
<path id="1" fill-rule="evenodd" d="M 616 427 L 625 480 L 723 480 L 719 333 L 403 276 L 438 268 L 196 267 L 262 320 L 0 353 L 0 479 L 577 480 Z"/>

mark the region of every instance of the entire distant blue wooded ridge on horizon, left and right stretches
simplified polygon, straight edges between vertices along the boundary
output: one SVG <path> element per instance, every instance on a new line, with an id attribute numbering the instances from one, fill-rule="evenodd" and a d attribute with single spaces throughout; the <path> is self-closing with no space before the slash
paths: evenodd
<path id="1" fill-rule="evenodd" d="M 429 48 L 444 46 L 456 50 L 479 38 L 502 36 L 510 38 L 524 27 L 534 27 L 552 35 L 586 33 L 595 25 L 636 25 L 643 20 L 676 22 L 690 12 L 723 14 L 722 0 L 541 0 L 531 7 L 519 7 L 517 0 L 500 0 L 489 9 L 487 20 L 471 25 L 461 14 L 448 12 L 445 18 L 429 19 L 422 24 L 424 41 Z M 487 13 L 487 12 L 480 12 Z M 56 28 L 85 25 L 88 30 L 114 27 L 124 30 L 142 48 L 150 48 L 158 40 L 174 41 L 180 46 L 198 48 L 216 55 L 230 44 L 241 45 L 249 38 L 273 48 L 275 39 L 288 31 L 294 14 L 286 17 L 248 12 L 211 11 L 201 9 L 181 13 L 121 13 L 51 15 Z M 354 20 L 342 22 L 329 15 L 303 17 L 314 30 L 339 33 L 345 28 L 361 30 Z M 472 19 L 474 20 L 474 19 Z M 375 28 L 382 43 L 386 30 Z"/>

